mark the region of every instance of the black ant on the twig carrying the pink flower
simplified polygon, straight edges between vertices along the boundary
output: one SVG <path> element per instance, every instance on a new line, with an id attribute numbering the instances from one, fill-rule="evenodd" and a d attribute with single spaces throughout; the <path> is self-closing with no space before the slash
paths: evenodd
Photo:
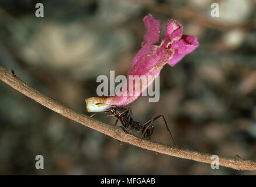
<path id="1" fill-rule="evenodd" d="M 102 103 L 97 103 L 96 105 L 100 105 L 100 104 L 102 104 Z M 136 130 L 141 133 L 141 140 L 143 137 L 145 137 L 145 138 L 148 137 L 148 139 L 150 140 L 151 135 L 153 134 L 153 131 L 154 131 L 154 124 L 152 124 L 152 123 L 155 120 L 162 117 L 164 119 L 165 126 L 172 138 L 172 141 L 174 141 L 175 146 L 177 146 L 177 144 L 175 143 L 174 137 L 172 136 L 171 130 L 169 130 L 167 121 L 165 120 L 165 117 L 163 115 L 158 115 L 156 117 L 152 117 L 151 119 L 148 119 L 146 122 L 140 124 L 139 122 L 135 122 L 133 120 L 132 108 L 123 108 L 123 107 L 117 107 L 117 106 L 113 105 L 105 112 L 96 112 L 93 115 L 91 115 L 90 117 L 96 115 L 97 113 L 106 113 L 106 112 L 112 113 L 111 115 L 108 115 L 108 117 L 109 116 L 117 117 L 114 126 L 116 126 L 117 122 L 120 120 L 120 122 L 122 123 L 122 126 L 123 126 L 123 127 L 121 126 L 121 128 L 123 129 L 123 131 L 125 133 L 128 133 L 128 131 L 126 129 L 128 129 L 130 127 L 130 130 Z"/>

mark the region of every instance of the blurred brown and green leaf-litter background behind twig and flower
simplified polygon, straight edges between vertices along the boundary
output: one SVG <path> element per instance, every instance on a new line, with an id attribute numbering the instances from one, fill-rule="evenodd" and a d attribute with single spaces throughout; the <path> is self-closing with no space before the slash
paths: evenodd
<path id="1" fill-rule="evenodd" d="M 89 115 L 98 75 L 126 75 L 151 13 L 184 26 L 200 46 L 160 75 L 160 101 L 134 101 L 134 120 L 163 114 L 181 148 L 256 161 L 255 0 L 0 1 L 0 65 L 40 92 Z M 220 17 L 210 16 L 219 4 Z M 113 124 L 115 117 L 96 115 Z M 173 145 L 164 122 L 154 141 Z M 34 167 L 43 155 L 44 169 Z M 0 82 L 0 174 L 255 175 L 155 154 L 91 130 Z"/>

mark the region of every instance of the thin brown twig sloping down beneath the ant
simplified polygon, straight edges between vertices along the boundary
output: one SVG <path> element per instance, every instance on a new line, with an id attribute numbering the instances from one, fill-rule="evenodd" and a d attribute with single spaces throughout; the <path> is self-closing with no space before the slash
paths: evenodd
<path id="1" fill-rule="evenodd" d="M 123 130 L 119 127 L 110 126 L 108 124 L 94 120 L 91 117 L 78 113 L 75 110 L 62 105 L 61 103 L 58 103 L 57 101 L 47 97 L 43 93 L 40 93 L 39 91 L 31 88 L 25 82 L 16 77 L 16 75 L 13 73 L 13 70 L 6 70 L 0 66 L 0 79 L 9 86 L 12 86 L 12 88 L 16 89 L 20 93 L 23 93 L 24 95 L 28 96 L 36 102 L 39 102 L 41 105 L 46 106 L 54 112 L 60 113 L 60 115 L 68 117 L 75 122 L 84 124 L 85 126 L 113 137 L 116 140 L 120 140 L 137 147 L 145 148 L 157 153 L 171 155 L 174 157 L 186 158 L 189 160 L 205 162 L 209 164 L 213 161 L 211 160 L 212 155 L 210 154 L 199 153 L 198 151 L 192 150 L 179 150 L 178 148 L 166 146 L 164 144 L 149 140 L 140 141 L 140 138 L 135 137 L 132 134 L 124 133 Z M 240 157 L 219 156 L 219 165 L 238 170 L 256 170 L 256 162 L 243 160 Z"/>

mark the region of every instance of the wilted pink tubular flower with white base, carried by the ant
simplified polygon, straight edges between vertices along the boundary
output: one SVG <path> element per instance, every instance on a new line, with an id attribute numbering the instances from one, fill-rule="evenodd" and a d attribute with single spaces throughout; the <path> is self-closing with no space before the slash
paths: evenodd
<path id="1" fill-rule="evenodd" d="M 126 91 L 117 93 L 115 96 L 106 98 L 88 98 L 88 112 L 102 112 L 111 106 L 126 106 L 140 97 L 141 93 L 150 86 L 154 79 L 160 74 L 165 64 L 174 66 L 186 54 L 191 53 L 199 46 L 196 37 L 182 36 L 182 25 L 174 19 L 170 19 L 167 24 L 167 31 L 164 40 L 160 46 L 155 46 L 159 40 L 161 32 L 161 23 L 155 20 L 152 15 L 145 16 L 143 19 L 146 26 L 146 34 L 144 35 L 143 47 L 133 58 L 132 68 L 127 76 L 127 83 L 124 88 Z M 129 86 L 129 76 L 137 75 L 142 79 L 136 79 L 132 82 L 133 86 Z M 146 84 L 141 82 L 145 81 Z M 135 84 L 139 84 L 135 88 Z M 139 93 L 129 95 L 129 93 Z"/>

